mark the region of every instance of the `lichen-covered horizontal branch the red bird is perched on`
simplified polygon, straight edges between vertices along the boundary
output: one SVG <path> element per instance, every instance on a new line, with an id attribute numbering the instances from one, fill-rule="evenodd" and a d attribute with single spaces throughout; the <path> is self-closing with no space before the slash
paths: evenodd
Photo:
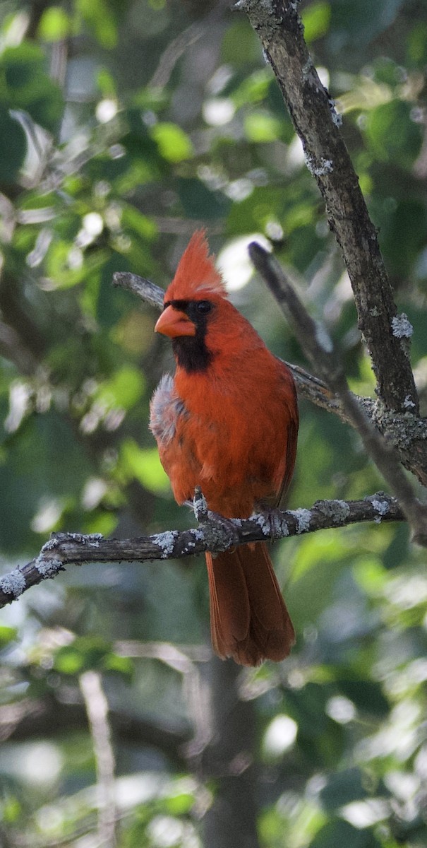
<path id="1" fill-rule="evenodd" d="M 222 521 L 208 512 L 199 527 L 190 530 L 166 530 L 153 536 L 105 539 L 100 533 L 54 533 L 36 559 L 0 578 L 0 608 L 50 577 L 64 566 L 83 562 L 144 562 L 176 560 L 227 550 L 234 544 L 286 538 L 314 533 L 330 527 L 347 527 L 360 522 L 402 522 L 405 514 L 396 499 L 378 492 L 363 500 L 319 500 L 311 510 L 274 510 L 271 515 L 257 514 L 247 519 Z"/>

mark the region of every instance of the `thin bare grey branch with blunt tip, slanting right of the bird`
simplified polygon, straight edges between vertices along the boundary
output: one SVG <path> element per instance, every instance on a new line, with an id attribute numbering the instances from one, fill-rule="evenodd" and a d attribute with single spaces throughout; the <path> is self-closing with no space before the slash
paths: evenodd
<path id="1" fill-rule="evenodd" d="M 335 355 L 328 333 L 317 321 L 308 315 L 308 311 L 298 298 L 286 274 L 279 263 L 256 242 L 249 245 L 252 262 L 269 286 L 274 297 L 286 313 L 288 321 L 294 327 L 302 348 L 311 361 L 329 383 L 330 388 L 341 399 L 349 421 L 358 430 L 365 449 L 372 457 L 381 474 L 391 486 L 408 518 L 413 530 L 413 540 L 427 545 L 427 509 L 419 503 L 413 488 L 402 471 L 400 457 L 395 448 L 374 427 L 358 400 L 350 392 L 341 363 Z"/>

